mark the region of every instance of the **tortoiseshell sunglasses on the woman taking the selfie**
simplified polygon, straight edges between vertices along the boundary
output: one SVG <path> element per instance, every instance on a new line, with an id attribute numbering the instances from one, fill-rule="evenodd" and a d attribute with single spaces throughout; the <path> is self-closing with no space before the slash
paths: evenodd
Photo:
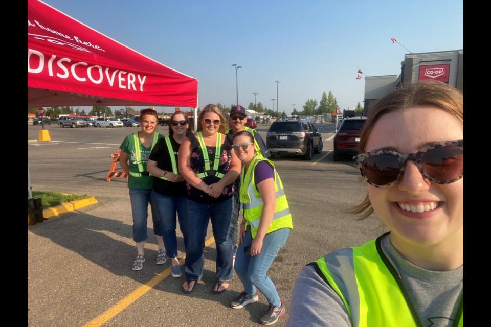
<path id="1" fill-rule="evenodd" d="M 353 157 L 362 176 L 377 188 L 390 188 L 398 183 L 408 159 L 414 160 L 421 175 L 432 182 L 456 182 L 464 177 L 464 140 L 431 143 L 411 154 L 378 150 Z"/>

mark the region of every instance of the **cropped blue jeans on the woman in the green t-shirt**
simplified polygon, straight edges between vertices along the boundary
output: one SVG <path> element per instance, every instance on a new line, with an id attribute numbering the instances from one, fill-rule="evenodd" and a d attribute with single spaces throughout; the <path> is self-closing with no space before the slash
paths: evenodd
<path id="1" fill-rule="evenodd" d="M 150 198 L 151 191 L 152 189 L 129 189 L 129 201 L 133 215 L 133 241 L 136 243 L 148 239 L 148 204 L 150 204 L 152 212 L 153 232 L 155 235 L 162 236 L 162 224 L 159 213 L 155 210 L 155 205 L 153 205 L 153 201 Z"/>

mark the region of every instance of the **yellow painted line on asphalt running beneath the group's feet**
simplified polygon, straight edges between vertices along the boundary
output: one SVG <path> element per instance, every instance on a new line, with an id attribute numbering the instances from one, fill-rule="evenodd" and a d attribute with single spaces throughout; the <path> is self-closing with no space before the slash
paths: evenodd
<path id="1" fill-rule="evenodd" d="M 205 242 L 205 246 L 209 246 L 215 242 L 215 239 L 213 237 L 209 238 Z M 183 259 L 186 259 L 186 255 L 183 256 Z M 182 264 L 184 265 L 184 263 Z M 181 265 L 181 266 L 182 266 Z M 89 321 L 87 324 L 85 324 L 85 327 L 96 327 L 96 326 L 102 326 L 104 323 L 109 321 L 110 319 L 113 319 L 118 313 L 126 309 L 131 303 L 135 302 L 138 300 L 140 297 L 145 295 L 148 291 L 150 291 L 155 285 L 159 284 L 162 282 L 162 280 L 170 275 L 170 271 L 172 269 L 172 266 L 165 269 L 162 271 L 160 274 L 157 274 L 157 276 L 153 277 L 145 283 L 144 285 L 140 286 L 137 288 L 135 291 L 129 293 L 125 298 L 123 298 L 121 301 L 116 303 L 115 306 L 107 309 L 104 313 L 93 319 L 92 321 Z"/>

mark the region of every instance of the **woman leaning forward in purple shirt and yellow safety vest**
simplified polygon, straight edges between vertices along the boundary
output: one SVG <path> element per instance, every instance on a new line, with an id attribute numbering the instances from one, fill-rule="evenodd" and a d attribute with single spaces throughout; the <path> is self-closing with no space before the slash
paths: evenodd
<path id="1" fill-rule="evenodd" d="M 293 228 L 292 215 L 281 178 L 273 162 L 257 153 L 253 134 L 238 132 L 233 141 L 232 147 L 242 162 L 239 198 L 244 209 L 234 268 L 244 291 L 230 306 L 241 309 L 257 302 L 259 290 L 269 305 L 260 321 L 271 325 L 285 314 L 285 305 L 266 273 L 286 244 Z"/>

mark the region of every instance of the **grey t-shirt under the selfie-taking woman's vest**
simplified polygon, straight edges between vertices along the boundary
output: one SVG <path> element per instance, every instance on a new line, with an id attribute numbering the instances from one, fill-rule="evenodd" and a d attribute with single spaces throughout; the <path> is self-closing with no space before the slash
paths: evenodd
<path id="1" fill-rule="evenodd" d="M 464 266 L 451 271 L 421 269 L 397 252 L 389 236 L 381 244 L 399 272 L 423 326 L 451 326 L 463 292 Z M 352 326 L 343 301 L 312 266 L 304 266 L 295 281 L 286 325 Z"/>

